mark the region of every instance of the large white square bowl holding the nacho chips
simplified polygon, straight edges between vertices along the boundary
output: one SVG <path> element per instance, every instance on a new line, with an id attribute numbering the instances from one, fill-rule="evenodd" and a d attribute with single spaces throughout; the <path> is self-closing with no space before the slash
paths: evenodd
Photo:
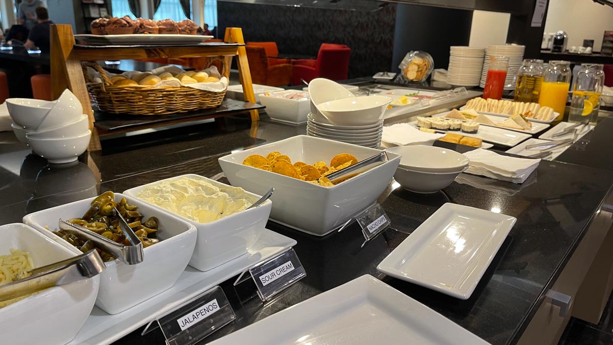
<path id="1" fill-rule="evenodd" d="M 387 153 L 389 161 L 386 163 L 334 187 L 323 187 L 243 165 L 243 160 L 250 155 L 266 157 L 272 151 L 289 156 L 292 163 L 325 161 L 329 164 L 332 157 L 339 153 L 351 153 L 361 161 L 381 150 L 302 135 L 219 158 L 219 165 L 230 184 L 256 194 L 263 194 L 270 187 L 275 187 L 271 198 L 272 219 L 316 236 L 330 233 L 373 204 L 394 176 L 401 157 L 396 153 Z"/>

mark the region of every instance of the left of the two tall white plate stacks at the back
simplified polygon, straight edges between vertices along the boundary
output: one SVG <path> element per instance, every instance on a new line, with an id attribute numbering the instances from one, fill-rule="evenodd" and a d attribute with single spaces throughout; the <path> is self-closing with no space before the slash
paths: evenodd
<path id="1" fill-rule="evenodd" d="M 447 83 L 456 86 L 479 85 L 484 55 L 484 48 L 461 45 L 450 47 Z"/>

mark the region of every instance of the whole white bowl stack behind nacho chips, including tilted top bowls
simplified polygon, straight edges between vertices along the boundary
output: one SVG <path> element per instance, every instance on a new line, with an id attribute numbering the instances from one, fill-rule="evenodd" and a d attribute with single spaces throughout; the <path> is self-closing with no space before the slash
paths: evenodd
<path id="1" fill-rule="evenodd" d="M 343 85 L 324 78 L 311 80 L 308 92 L 308 135 L 365 147 L 381 145 L 383 114 L 392 98 L 356 97 Z"/>

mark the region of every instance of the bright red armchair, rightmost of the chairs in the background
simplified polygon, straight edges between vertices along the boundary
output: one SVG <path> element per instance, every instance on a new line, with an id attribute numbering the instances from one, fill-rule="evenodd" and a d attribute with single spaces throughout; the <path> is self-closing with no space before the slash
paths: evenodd
<path id="1" fill-rule="evenodd" d="M 292 85 L 299 85 L 300 78 L 310 82 L 315 78 L 331 80 L 347 79 L 351 48 L 343 44 L 322 43 L 317 60 L 295 60 L 292 69 Z"/>

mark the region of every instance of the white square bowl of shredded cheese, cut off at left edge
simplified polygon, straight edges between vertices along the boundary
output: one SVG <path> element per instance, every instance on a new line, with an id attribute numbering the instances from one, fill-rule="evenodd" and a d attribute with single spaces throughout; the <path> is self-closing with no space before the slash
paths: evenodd
<path id="1" fill-rule="evenodd" d="M 0 255 L 29 252 L 34 267 L 75 256 L 39 231 L 21 223 L 0 227 Z M 2 344 L 66 344 L 94 308 L 100 277 L 52 287 L 0 309 Z"/>

